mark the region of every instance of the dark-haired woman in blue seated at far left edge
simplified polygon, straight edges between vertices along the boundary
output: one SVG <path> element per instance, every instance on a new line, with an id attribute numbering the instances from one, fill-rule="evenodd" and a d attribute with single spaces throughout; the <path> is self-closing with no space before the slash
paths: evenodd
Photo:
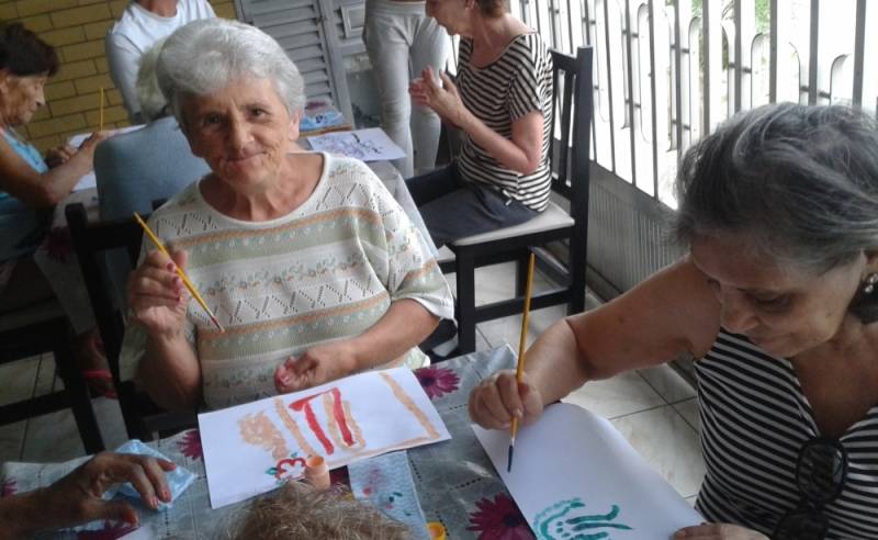
<path id="1" fill-rule="evenodd" d="M 46 158 L 15 131 L 46 101 L 43 87 L 58 71 L 55 49 L 21 24 L 0 26 L 0 311 L 15 311 L 54 296 L 32 254 L 43 241 L 52 209 L 91 170 L 95 133 L 79 148 L 61 146 Z M 93 317 L 74 320 L 78 356 L 90 384 L 112 395 Z"/>

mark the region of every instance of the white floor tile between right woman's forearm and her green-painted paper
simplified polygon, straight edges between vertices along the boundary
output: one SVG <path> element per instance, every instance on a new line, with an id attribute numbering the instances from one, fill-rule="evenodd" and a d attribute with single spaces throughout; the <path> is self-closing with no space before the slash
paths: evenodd
<path id="1" fill-rule="evenodd" d="M 574 403 L 605 418 L 616 418 L 665 405 L 664 400 L 637 372 L 592 381 L 563 402 Z"/>

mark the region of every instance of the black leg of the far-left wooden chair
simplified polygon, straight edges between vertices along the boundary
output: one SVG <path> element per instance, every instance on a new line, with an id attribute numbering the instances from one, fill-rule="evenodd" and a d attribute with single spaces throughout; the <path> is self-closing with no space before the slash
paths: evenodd
<path id="1" fill-rule="evenodd" d="M 55 364 L 58 367 L 58 372 L 64 381 L 65 392 L 79 429 L 79 437 L 82 438 L 82 445 L 86 447 L 87 453 L 101 452 L 104 450 L 101 429 L 98 427 L 94 410 L 91 408 L 89 389 L 77 367 L 76 356 L 72 352 L 74 340 L 69 329 L 64 333 L 57 333 L 53 339 L 55 342 L 52 351 L 55 355 Z"/>

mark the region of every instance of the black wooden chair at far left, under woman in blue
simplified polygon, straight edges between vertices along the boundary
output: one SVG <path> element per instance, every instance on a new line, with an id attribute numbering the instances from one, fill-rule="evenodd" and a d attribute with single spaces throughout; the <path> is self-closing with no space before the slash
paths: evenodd
<path id="1" fill-rule="evenodd" d="M 0 406 L 0 425 L 69 407 L 86 452 L 102 451 L 101 430 L 91 408 L 88 386 L 77 367 L 75 350 L 74 329 L 55 299 L 0 314 L 0 363 L 52 352 L 64 382 L 61 390 Z"/>

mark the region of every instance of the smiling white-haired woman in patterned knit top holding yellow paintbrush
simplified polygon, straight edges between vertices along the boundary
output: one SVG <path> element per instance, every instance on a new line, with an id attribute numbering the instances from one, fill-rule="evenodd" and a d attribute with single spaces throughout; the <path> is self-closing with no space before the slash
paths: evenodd
<path id="1" fill-rule="evenodd" d="M 427 363 L 416 346 L 452 316 L 448 283 L 365 165 L 290 151 L 304 83 L 280 45 L 246 24 L 198 21 L 168 37 L 157 74 L 211 172 L 153 214 L 171 257 L 145 243 L 128 281 L 123 364 L 154 401 L 217 408 Z"/>

